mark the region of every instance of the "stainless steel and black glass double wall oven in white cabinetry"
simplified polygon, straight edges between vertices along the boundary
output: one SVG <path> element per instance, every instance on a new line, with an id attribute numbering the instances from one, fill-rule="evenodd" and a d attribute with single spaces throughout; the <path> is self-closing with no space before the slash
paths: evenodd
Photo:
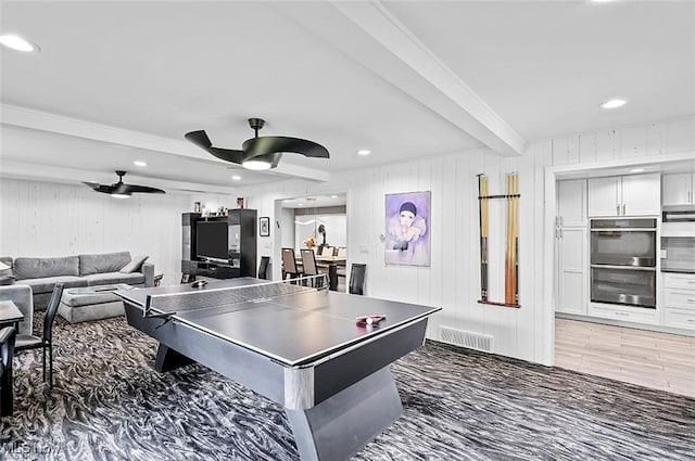
<path id="1" fill-rule="evenodd" d="M 656 308 L 656 219 L 591 220 L 591 300 Z"/>

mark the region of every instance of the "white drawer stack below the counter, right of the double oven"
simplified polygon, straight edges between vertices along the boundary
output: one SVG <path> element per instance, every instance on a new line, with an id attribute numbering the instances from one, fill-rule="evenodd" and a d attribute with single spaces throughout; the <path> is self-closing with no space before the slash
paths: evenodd
<path id="1" fill-rule="evenodd" d="M 664 325 L 695 330 L 695 274 L 664 273 Z"/>

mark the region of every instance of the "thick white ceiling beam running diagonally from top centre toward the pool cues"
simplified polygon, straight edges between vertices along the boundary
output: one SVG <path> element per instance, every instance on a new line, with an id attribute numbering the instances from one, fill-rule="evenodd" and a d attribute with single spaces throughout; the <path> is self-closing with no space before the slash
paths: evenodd
<path id="1" fill-rule="evenodd" d="M 380 2 L 274 5 L 494 152 L 523 153 L 523 138 Z"/>

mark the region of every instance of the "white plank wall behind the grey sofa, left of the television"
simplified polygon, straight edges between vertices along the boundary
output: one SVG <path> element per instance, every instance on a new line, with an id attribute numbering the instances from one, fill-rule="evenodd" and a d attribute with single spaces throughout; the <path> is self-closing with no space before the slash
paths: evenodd
<path id="1" fill-rule="evenodd" d="M 85 185 L 0 181 L 0 255 L 58 257 L 128 251 L 149 255 L 164 284 L 180 280 L 187 195 L 116 200 Z"/>

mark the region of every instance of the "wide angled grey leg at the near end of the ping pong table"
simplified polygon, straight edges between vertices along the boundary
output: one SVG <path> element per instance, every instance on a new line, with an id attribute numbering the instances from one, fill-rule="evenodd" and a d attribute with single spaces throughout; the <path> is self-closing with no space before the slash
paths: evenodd
<path id="1" fill-rule="evenodd" d="M 285 411 L 302 460 L 342 460 L 393 424 L 403 406 L 384 367 L 308 410 Z"/>

